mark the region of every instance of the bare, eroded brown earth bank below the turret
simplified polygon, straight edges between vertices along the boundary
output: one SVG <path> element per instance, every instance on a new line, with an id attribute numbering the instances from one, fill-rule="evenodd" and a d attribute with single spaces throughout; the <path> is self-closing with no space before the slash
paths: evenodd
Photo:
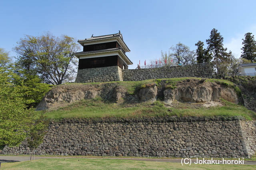
<path id="1" fill-rule="evenodd" d="M 112 102 L 138 103 L 164 100 L 167 105 L 177 102 L 216 106 L 220 99 L 238 104 L 243 102 L 235 92 L 234 86 L 220 82 L 208 82 L 205 79 L 185 79 L 174 82 L 156 80 L 152 83 L 134 87 L 128 90 L 125 82 L 98 84 L 62 84 L 52 88 L 37 106 L 37 110 L 56 109 L 82 99 L 102 98 Z"/>

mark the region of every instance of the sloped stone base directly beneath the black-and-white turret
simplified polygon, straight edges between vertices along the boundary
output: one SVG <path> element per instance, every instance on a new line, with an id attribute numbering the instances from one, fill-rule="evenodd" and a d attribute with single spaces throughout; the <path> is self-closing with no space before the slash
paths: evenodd
<path id="1" fill-rule="evenodd" d="M 76 83 L 122 81 L 122 69 L 118 66 L 79 69 Z"/>

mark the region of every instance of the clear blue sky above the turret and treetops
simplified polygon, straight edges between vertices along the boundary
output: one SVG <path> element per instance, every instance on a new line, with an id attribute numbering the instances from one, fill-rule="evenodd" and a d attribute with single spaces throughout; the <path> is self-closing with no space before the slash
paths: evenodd
<path id="1" fill-rule="evenodd" d="M 11 56 L 24 35 L 85 39 L 120 30 L 132 69 L 179 42 L 196 50 L 200 40 L 206 48 L 213 28 L 240 57 L 244 34 L 256 34 L 256 0 L 0 0 L 0 22 L 0 48 Z"/>

